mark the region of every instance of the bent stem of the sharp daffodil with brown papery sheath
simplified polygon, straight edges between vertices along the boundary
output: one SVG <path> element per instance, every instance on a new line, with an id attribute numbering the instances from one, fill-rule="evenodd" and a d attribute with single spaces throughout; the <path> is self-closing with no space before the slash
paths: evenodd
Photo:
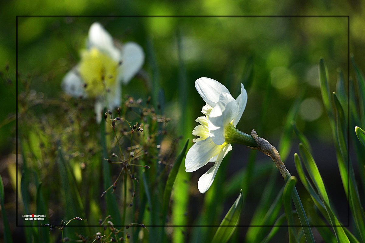
<path id="1" fill-rule="evenodd" d="M 247 135 L 247 134 L 246 134 Z M 279 169 L 281 175 L 284 177 L 284 180 L 287 181 L 289 177 L 291 177 L 289 171 L 287 168 L 285 168 L 285 165 L 283 161 L 281 161 L 280 154 L 277 152 L 276 148 L 274 148 L 273 145 L 271 145 L 268 141 L 266 141 L 264 138 L 258 137 L 257 133 L 252 130 L 251 135 L 254 138 L 254 140 L 257 143 L 257 146 L 250 147 L 251 149 L 258 149 L 262 153 L 267 154 L 272 158 L 272 160 L 275 162 L 276 167 Z M 303 205 L 301 204 L 300 197 L 298 195 L 298 192 L 293 187 L 293 194 L 292 199 L 296 208 L 296 211 L 298 213 L 298 217 L 300 220 L 300 224 L 303 228 L 304 236 L 306 237 L 307 242 L 315 242 L 312 234 L 311 227 L 309 226 L 309 222 L 306 216 L 306 212 L 304 211 Z"/>

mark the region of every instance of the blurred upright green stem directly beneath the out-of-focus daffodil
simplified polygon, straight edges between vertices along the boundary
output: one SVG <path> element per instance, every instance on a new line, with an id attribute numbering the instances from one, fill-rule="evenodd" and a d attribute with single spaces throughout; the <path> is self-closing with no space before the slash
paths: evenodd
<path id="1" fill-rule="evenodd" d="M 104 112 L 106 110 L 104 109 Z M 101 150 L 102 150 L 102 158 L 101 159 L 101 165 L 103 169 L 103 188 L 108 188 L 110 185 L 112 185 L 111 175 L 110 175 L 110 164 L 104 160 L 104 158 L 108 158 L 108 150 L 107 150 L 107 141 L 105 136 L 105 120 L 101 119 L 100 122 L 100 143 L 101 143 Z M 101 193 L 100 193 L 101 194 Z M 107 202 L 107 215 L 112 216 L 112 222 L 115 225 L 121 225 L 122 224 L 122 217 L 120 217 L 119 212 L 119 204 L 116 200 L 116 195 L 114 193 L 106 193 L 103 196 L 103 200 Z"/>

